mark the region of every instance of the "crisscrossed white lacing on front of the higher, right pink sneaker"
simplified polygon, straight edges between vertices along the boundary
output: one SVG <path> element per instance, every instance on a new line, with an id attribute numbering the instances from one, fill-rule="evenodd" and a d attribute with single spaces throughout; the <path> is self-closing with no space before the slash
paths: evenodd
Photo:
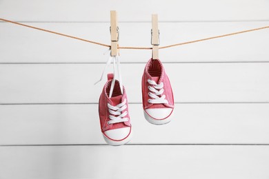
<path id="1" fill-rule="evenodd" d="M 155 81 L 152 81 L 148 79 L 148 83 L 152 86 L 148 86 L 148 89 L 150 89 L 150 92 L 148 93 L 148 96 L 150 96 L 151 99 L 148 99 L 148 103 L 152 104 L 163 104 L 163 103 L 168 103 L 166 100 L 166 95 L 163 94 L 164 89 L 163 89 L 163 83 L 161 82 L 159 85 Z M 159 90 L 157 90 L 159 89 Z M 161 95 L 163 94 L 163 95 Z M 161 96 L 161 97 L 159 97 Z"/>

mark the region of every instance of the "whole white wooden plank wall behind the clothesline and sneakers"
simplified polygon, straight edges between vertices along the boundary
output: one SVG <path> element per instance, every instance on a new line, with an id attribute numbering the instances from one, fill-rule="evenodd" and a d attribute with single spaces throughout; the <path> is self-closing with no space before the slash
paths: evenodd
<path id="1" fill-rule="evenodd" d="M 0 0 L 0 17 L 120 45 L 161 45 L 269 23 L 269 1 Z M 269 30 L 160 50 L 175 93 L 163 126 L 143 118 L 151 52 L 121 50 L 134 136 L 105 145 L 94 86 L 106 48 L 0 22 L 0 178 L 269 178 Z"/>

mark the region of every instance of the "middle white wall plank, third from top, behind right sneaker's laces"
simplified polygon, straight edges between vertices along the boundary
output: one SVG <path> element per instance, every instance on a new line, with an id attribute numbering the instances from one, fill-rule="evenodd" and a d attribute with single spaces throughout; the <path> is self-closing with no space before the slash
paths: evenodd
<path id="1" fill-rule="evenodd" d="M 141 102 L 144 65 L 121 64 L 130 103 Z M 164 66 L 176 102 L 269 101 L 269 63 Z M 103 67 L 104 64 L 0 65 L 0 103 L 98 103 L 105 80 L 93 84 Z"/>

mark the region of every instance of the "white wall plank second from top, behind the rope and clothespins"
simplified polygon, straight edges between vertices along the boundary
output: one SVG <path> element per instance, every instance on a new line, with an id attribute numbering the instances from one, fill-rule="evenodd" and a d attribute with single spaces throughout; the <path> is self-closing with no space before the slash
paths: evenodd
<path id="1" fill-rule="evenodd" d="M 109 23 L 27 23 L 110 44 Z M 159 23 L 162 45 L 228 34 L 267 25 L 260 22 Z M 150 47 L 150 23 L 119 23 L 121 46 Z M 0 23 L 0 63 L 105 63 L 107 48 Z M 269 30 L 160 50 L 166 62 L 268 61 Z M 150 50 L 121 50 L 123 63 L 146 62 Z"/>

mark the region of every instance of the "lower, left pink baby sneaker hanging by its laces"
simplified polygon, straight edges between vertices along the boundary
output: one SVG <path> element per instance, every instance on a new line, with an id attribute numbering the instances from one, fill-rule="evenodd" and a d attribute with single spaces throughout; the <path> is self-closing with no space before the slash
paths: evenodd
<path id="1" fill-rule="evenodd" d="M 99 98 L 99 118 L 103 138 L 109 145 L 123 145 L 130 141 L 132 127 L 128 114 L 126 91 L 113 74 L 108 74 L 108 81 Z M 110 94 L 110 88 L 112 89 Z M 111 97 L 109 97 L 111 95 Z"/>

